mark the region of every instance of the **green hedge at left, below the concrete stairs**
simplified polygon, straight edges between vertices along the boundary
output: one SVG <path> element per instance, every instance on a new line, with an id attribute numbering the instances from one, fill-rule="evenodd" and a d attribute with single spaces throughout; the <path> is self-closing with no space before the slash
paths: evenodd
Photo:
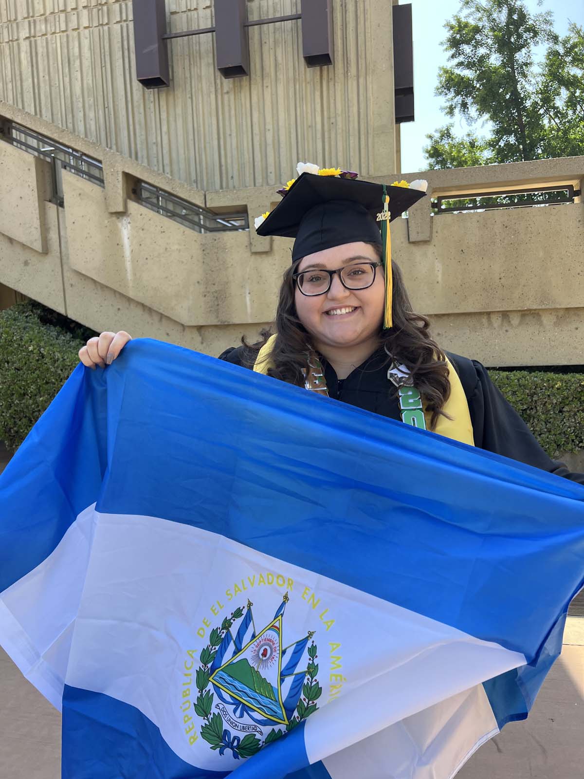
<path id="1" fill-rule="evenodd" d="M 33 301 L 0 311 L 0 440 L 9 449 L 23 442 L 93 335 Z"/>

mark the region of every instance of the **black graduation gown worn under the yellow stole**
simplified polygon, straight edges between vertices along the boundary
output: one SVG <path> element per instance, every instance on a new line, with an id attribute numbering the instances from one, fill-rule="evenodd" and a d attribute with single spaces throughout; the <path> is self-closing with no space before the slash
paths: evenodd
<path id="1" fill-rule="evenodd" d="M 480 362 L 458 354 L 447 354 L 466 394 L 475 446 L 584 485 L 584 474 L 568 471 L 563 463 L 547 456 L 526 423 L 491 382 Z M 254 355 L 255 352 L 246 347 L 237 347 L 224 351 L 220 360 L 249 368 Z M 383 417 L 401 418 L 396 393 L 392 392 L 392 384 L 387 378 L 385 352 L 375 352 L 343 381 L 337 379 L 331 365 L 323 365 L 330 397 Z"/>

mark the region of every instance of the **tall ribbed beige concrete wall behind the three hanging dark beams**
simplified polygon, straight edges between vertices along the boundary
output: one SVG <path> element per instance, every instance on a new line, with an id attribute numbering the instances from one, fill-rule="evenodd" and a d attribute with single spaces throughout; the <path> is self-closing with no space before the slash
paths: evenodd
<path id="1" fill-rule="evenodd" d="M 172 41 L 171 88 L 146 91 L 131 0 L 6 0 L 0 100 L 199 189 L 286 182 L 298 160 L 394 170 L 391 3 L 332 4 L 333 67 L 306 67 L 293 21 L 249 28 L 250 78 L 220 76 L 213 34 Z M 248 0 L 249 19 L 296 12 Z M 210 0 L 167 0 L 169 30 L 212 24 Z"/>

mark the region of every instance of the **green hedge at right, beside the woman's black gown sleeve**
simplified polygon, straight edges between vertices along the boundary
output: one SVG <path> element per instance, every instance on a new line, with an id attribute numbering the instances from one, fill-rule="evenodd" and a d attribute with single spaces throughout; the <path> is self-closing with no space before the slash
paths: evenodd
<path id="1" fill-rule="evenodd" d="M 491 370 L 489 375 L 551 457 L 584 449 L 584 373 Z"/>

